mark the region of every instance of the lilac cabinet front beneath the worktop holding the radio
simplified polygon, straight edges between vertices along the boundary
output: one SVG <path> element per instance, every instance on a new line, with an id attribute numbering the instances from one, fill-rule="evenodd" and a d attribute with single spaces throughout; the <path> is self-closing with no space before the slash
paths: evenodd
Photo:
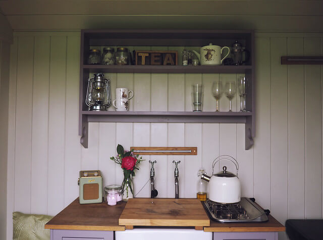
<path id="1" fill-rule="evenodd" d="M 113 231 L 50 229 L 50 240 L 113 240 Z"/>

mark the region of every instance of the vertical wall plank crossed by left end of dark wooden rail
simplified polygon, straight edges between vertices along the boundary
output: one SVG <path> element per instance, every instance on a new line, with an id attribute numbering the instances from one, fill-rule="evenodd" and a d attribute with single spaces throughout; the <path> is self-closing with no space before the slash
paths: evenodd
<path id="1" fill-rule="evenodd" d="M 287 217 L 288 170 L 288 88 L 287 66 L 280 64 L 286 56 L 287 38 L 271 38 L 272 164 L 271 209 L 281 222 Z M 283 233 L 284 234 L 284 233 Z M 281 234 L 282 235 L 282 234 Z"/>

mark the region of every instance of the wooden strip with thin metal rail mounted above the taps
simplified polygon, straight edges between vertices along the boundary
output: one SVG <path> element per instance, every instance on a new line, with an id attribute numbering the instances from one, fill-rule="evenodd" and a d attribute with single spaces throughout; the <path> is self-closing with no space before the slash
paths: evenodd
<path id="1" fill-rule="evenodd" d="M 130 147 L 130 149 L 139 155 L 197 155 L 197 147 Z"/>

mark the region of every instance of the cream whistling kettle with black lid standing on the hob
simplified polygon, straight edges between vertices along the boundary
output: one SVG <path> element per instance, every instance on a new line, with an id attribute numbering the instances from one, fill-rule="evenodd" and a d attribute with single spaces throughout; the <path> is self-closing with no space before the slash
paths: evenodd
<path id="1" fill-rule="evenodd" d="M 227 167 L 223 167 L 223 171 L 213 174 L 214 166 L 221 160 L 229 160 L 234 163 L 237 173 L 233 174 L 227 171 Z M 208 198 L 218 203 L 238 203 L 241 200 L 241 185 L 238 178 L 239 164 L 237 160 L 228 155 L 221 155 L 213 161 L 212 176 L 209 177 L 205 173 L 201 178 L 208 181 Z"/>

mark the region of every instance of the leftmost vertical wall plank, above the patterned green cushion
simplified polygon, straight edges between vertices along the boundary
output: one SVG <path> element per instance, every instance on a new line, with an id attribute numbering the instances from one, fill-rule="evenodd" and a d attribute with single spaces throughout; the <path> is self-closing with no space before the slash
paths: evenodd
<path id="1" fill-rule="evenodd" d="M 34 37 L 18 40 L 15 178 L 15 211 L 30 212 L 31 188 L 31 132 L 33 87 Z M 21 198 L 19 196 L 24 196 Z"/>

